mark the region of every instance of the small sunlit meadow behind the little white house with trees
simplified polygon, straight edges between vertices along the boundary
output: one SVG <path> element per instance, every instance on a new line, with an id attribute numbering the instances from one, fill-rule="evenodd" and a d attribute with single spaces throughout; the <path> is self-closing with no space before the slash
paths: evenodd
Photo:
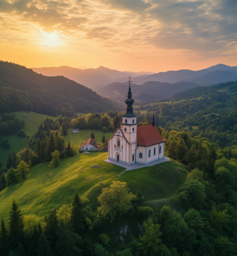
<path id="1" fill-rule="evenodd" d="M 111 138 L 113 132 L 103 132 L 97 129 L 82 129 L 80 132 L 72 133 L 72 129 L 68 129 L 68 135 L 65 136 L 65 145 L 68 144 L 68 140 L 73 141 L 76 148 L 80 147 L 82 143 L 91 138 L 91 132 L 95 134 L 95 140 L 101 143 L 103 134 L 105 137 Z"/>

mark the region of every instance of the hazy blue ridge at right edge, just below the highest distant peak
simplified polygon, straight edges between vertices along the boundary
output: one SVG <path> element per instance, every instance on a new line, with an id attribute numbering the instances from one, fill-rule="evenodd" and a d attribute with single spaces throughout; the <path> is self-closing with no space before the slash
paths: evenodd
<path id="1" fill-rule="evenodd" d="M 197 83 L 202 84 L 204 86 L 209 86 L 211 84 L 219 84 L 219 83 L 226 83 L 229 81 L 236 81 L 237 80 L 237 72 L 229 72 L 229 71 L 211 71 L 204 75 L 200 75 L 196 78 L 191 78 L 188 80 L 183 80 L 190 83 Z"/>

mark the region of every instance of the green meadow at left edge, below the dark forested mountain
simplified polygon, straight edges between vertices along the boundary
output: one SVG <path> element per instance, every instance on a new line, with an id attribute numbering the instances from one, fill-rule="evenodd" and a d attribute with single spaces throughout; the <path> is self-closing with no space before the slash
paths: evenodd
<path id="1" fill-rule="evenodd" d="M 30 113 L 30 112 L 13 112 L 15 115 L 18 116 L 21 120 L 25 121 L 25 127 L 23 127 L 25 134 L 27 136 L 31 136 L 34 132 L 37 131 L 40 123 L 46 118 L 46 115 L 41 115 L 37 113 Z M 49 118 L 53 118 L 49 116 Z M 2 165 L 5 165 L 7 162 L 7 156 L 9 153 L 13 151 L 17 154 L 21 149 L 27 146 L 29 138 L 20 138 L 16 134 L 7 136 L 8 141 L 10 143 L 10 148 L 4 149 L 0 147 L 0 161 Z"/>

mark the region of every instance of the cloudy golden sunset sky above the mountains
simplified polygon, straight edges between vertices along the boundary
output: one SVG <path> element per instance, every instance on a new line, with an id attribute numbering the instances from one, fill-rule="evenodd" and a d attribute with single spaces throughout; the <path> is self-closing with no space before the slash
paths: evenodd
<path id="1" fill-rule="evenodd" d="M 0 59 L 120 71 L 237 66 L 237 0 L 0 0 Z"/>

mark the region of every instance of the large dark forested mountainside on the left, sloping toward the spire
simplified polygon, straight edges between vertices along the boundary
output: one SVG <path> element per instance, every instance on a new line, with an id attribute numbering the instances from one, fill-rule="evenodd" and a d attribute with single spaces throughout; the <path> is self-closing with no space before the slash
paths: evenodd
<path id="1" fill-rule="evenodd" d="M 68 78 L 46 77 L 32 69 L 0 61 L 0 113 L 33 111 L 50 116 L 104 112 L 116 105 Z"/>

